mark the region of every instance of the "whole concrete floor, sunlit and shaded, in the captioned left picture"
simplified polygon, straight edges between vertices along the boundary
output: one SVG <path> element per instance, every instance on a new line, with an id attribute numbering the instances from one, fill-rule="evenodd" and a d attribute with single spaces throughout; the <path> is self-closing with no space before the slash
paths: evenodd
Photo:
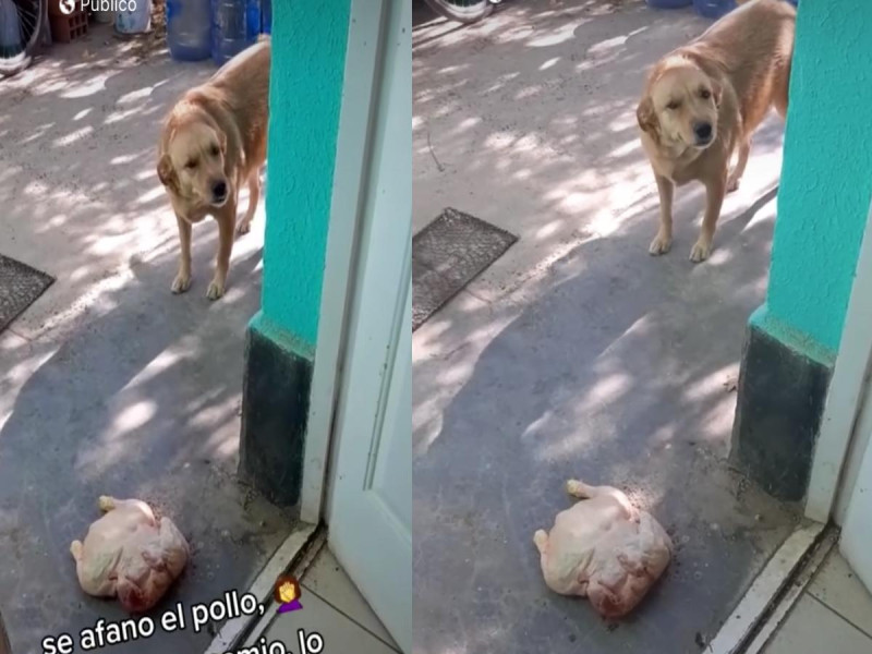
<path id="1" fill-rule="evenodd" d="M 15 654 L 123 616 L 83 595 L 69 554 L 100 494 L 149 500 L 189 537 L 193 561 L 167 604 L 246 588 L 292 529 L 235 477 L 263 205 L 221 301 L 205 296 L 213 222 L 194 230 L 193 288 L 169 291 L 178 237 L 155 174 L 159 122 L 213 71 L 98 27 L 0 80 L 0 252 L 58 279 L 0 334 L 0 613 Z M 196 652 L 210 639 L 185 631 L 124 651 Z"/>

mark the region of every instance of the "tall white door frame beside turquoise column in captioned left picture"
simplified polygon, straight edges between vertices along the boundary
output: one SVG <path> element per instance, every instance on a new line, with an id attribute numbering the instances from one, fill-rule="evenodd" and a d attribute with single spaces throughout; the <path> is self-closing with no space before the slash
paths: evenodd
<path id="1" fill-rule="evenodd" d="M 308 427 L 303 450 L 300 519 L 318 523 L 329 504 L 331 440 L 349 337 L 356 278 L 363 203 L 370 181 L 370 154 L 380 80 L 382 34 L 390 0 L 352 0 L 336 143 L 330 223 L 327 231 Z M 411 126 L 410 126 L 411 129 Z"/>

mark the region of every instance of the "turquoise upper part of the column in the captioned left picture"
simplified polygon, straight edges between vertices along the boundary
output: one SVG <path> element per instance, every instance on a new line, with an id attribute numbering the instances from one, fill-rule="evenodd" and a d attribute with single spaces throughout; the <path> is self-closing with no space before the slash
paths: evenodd
<path id="1" fill-rule="evenodd" d="M 263 316 L 304 350 L 318 332 L 350 0 L 274 0 Z"/>

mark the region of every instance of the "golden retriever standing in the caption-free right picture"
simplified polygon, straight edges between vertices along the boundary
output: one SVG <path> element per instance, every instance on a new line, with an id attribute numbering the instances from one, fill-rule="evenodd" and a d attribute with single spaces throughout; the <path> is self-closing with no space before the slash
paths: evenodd
<path id="1" fill-rule="evenodd" d="M 705 215 L 690 261 L 708 257 L 724 195 L 739 186 L 748 164 L 751 135 L 773 105 L 783 118 L 787 112 L 795 25 L 788 2 L 751 0 L 654 65 L 637 109 L 661 201 L 651 254 L 671 246 L 676 184 L 699 180 Z"/>

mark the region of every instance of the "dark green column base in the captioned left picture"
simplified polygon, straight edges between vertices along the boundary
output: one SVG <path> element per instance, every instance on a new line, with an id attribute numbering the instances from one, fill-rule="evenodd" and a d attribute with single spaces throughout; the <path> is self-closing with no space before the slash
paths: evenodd
<path id="1" fill-rule="evenodd" d="M 249 327 L 240 476 L 279 506 L 300 500 L 313 363 Z"/>

